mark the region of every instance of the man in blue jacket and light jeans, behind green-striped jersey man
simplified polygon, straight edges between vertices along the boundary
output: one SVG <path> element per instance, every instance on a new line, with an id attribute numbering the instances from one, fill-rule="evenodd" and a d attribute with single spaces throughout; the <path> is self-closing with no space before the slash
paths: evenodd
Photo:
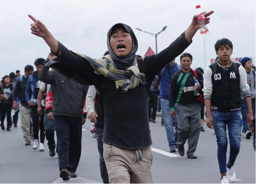
<path id="1" fill-rule="evenodd" d="M 174 121 L 170 115 L 170 103 L 169 103 L 170 83 L 171 83 L 173 74 L 180 69 L 181 69 L 181 65 L 177 64 L 175 62 L 175 59 L 173 59 L 172 62 L 167 64 L 164 67 L 164 69 L 158 74 L 158 76 L 161 77 L 160 101 L 161 101 L 161 109 L 162 109 L 162 118 L 164 120 L 164 126 L 166 129 L 170 152 L 176 152 L 177 139 L 178 139 L 178 114 L 176 114 Z M 175 103 L 174 107 L 176 111 L 177 103 Z M 175 131 L 173 131 L 174 123 L 175 123 Z"/>

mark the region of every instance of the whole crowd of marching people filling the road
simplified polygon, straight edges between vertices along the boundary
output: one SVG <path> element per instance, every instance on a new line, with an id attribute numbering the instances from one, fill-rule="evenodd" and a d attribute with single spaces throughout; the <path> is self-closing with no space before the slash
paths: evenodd
<path id="1" fill-rule="evenodd" d="M 206 23 L 212 13 L 204 12 Z M 25 75 L 17 70 L 16 75 L 3 76 L 1 126 L 5 130 L 7 116 L 6 130 L 10 131 L 12 123 L 17 127 L 16 113 L 20 112 L 25 145 L 31 145 L 33 139 L 33 149 L 44 151 L 46 137 L 49 155 L 55 156 L 55 149 L 58 154 L 59 176 L 63 180 L 77 177 L 82 125 L 87 114 L 95 123 L 91 132 L 96 135 L 103 182 L 153 183 L 149 122 L 156 123 L 157 104 L 161 107 L 169 151 L 178 149 L 184 156 L 188 141 L 187 158 L 196 159 L 199 135 L 204 131 L 205 103 L 206 124 L 214 129 L 217 138 L 221 183 L 236 181 L 234 162 L 241 135 L 247 139 L 252 135 L 255 71 L 250 58 L 242 58 L 241 65 L 231 62 L 231 41 L 216 42 L 219 59 L 206 68 L 203 77 L 201 68 L 190 67 L 192 55 L 184 52 L 199 28 L 196 16 L 169 47 L 144 57 L 136 55 L 138 42 L 132 28 L 117 23 L 108 31 L 108 52 L 101 59 L 68 50 L 42 22 L 29 17 L 34 22 L 31 33 L 42 37 L 51 53 L 47 59 L 34 61 L 36 71 L 27 65 Z M 178 64 L 175 58 L 180 54 Z M 49 71 L 50 67 L 54 70 Z M 226 127 L 230 140 L 228 162 Z"/>

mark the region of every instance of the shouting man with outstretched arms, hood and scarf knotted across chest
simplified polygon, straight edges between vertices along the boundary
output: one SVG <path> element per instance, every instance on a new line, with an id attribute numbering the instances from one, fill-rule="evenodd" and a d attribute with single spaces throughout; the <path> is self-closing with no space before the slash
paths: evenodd
<path id="1" fill-rule="evenodd" d="M 209 23 L 208 16 L 213 11 L 204 13 L 206 23 Z M 80 84 L 95 84 L 99 90 L 104 112 L 103 154 L 109 182 L 153 183 L 145 84 L 151 84 L 156 74 L 189 46 L 199 29 L 197 17 L 193 17 L 189 28 L 169 47 L 156 55 L 145 56 L 142 62 L 136 58 L 138 42 L 128 25 L 118 23 L 111 27 L 107 34 L 109 55 L 92 59 L 68 50 L 43 23 L 31 15 L 29 17 L 34 21 L 31 33 L 44 38 L 60 59 L 55 69 L 59 68 L 60 73 Z M 146 75 L 140 73 L 138 63 L 144 65 Z"/>

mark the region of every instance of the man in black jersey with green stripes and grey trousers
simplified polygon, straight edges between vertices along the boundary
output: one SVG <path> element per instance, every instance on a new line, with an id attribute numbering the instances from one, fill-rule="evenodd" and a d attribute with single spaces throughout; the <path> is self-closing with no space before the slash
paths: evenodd
<path id="1" fill-rule="evenodd" d="M 176 72 L 171 81 L 170 88 L 170 114 L 175 119 L 174 103 L 177 104 L 178 113 L 178 151 L 184 156 L 184 144 L 188 139 L 189 149 L 187 158 L 196 159 L 194 152 L 197 148 L 197 142 L 200 134 L 200 104 L 197 101 L 198 96 L 194 95 L 194 90 L 201 90 L 203 87 L 203 75 L 196 70 L 197 77 L 190 68 L 192 64 L 192 55 L 183 53 L 180 56 L 181 70 Z M 199 84 L 195 87 L 195 80 Z"/>

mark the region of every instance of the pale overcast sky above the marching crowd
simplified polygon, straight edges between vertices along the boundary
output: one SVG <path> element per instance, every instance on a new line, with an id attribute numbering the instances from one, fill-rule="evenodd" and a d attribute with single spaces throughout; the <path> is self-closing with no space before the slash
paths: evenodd
<path id="1" fill-rule="evenodd" d="M 167 26 L 157 37 L 159 52 L 187 29 L 196 5 L 214 14 L 209 33 L 198 31 L 185 50 L 193 56 L 192 67 L 205 69 L 211 64 L 216 58 L 214 44 L 222 38 L 233 42 L 232 58 L 255 58 L 255 0 L 0 0 L 0 75 L 16 70 L 24 74 L 25 65 L 47 58 L 50 49 L 31 34 L 28 14 L 67 48 L 91 58 L 101 58 L 107 50 L 106 33 L 112 25 L 128 24 L 139 42 L 137 54 L 144 56 L 149 46 L 155 52 L 155 37 L 136 28 L 158 33 Z"/>

